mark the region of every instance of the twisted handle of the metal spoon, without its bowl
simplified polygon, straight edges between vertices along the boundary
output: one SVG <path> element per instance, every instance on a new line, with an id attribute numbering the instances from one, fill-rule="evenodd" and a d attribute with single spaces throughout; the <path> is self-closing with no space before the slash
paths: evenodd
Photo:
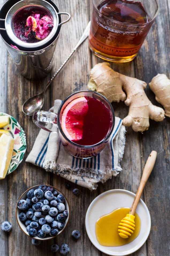
<path id="1" fill-rule="evenodd" d="M 73 55 L 73 53 L 75 52 L 75 50 L 77 50 L 78 46 L 80 46 L 82 44 L 82 42 L 84 42 L 84 40 L 88 37 L 89 35 L 89 31 L 90 31 L 90 21 L 87 25 L 87 27 L 85 28 L 82 37 L 80 38 L 80 40 L 78 41 L 77 45 L 74 47 L 73 51 L 70 53 L 70 55 L 67 57 L 67 59 L 63 62 L 63 64 L 61 65 L 61 67 L 59 67 L 59 69 L 56 71 L 56 73 L 52 76 L 51 80 L 48 82 L 46 88 L 44 89 L 43 93 L 47 90 L 48 86 L 51 84 L 52 80 L 54 80 L 54 78 L 56 77 L 56 75 L 60 72 L 60 70 L 64 67 L 64 65 L 67 63 L 67 61 L 70 59 L 70 57 Z"/>

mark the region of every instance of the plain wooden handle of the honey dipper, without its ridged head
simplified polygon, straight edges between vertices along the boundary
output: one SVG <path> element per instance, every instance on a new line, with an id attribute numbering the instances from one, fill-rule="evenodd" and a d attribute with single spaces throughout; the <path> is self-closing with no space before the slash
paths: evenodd
<path id="1" fill-rule="evenodd" d="M 146 181 L 148 180 L 149 175 L 151 174 L 152 169 L 154 167 L 154 164 L 155 164 L 155 161 L 156 161 L 156 156 L 157 156 L 157 152 L 152 151 L 150 153 L 147 161 L 146 161 L 146 164 L 145 164 L 145 167 L 144 167 L 144 170 L 143 170 L 143 174 L 142 174 L 142 178 L 141 178 L 141 182 L 139 184 L 139 188 L 138 188 L 138 191 L 137 191 L 136 196 L 134 198 L 133 204 L 130 208 L 129 214 L 132 214 L 132 215 L 135 214 L 135 210 L 136 210 L 136 207 L 139 203 L 139 200 L 140 200 L 141 194 L 143 192 L 143 189 L 145 187 Z"/>

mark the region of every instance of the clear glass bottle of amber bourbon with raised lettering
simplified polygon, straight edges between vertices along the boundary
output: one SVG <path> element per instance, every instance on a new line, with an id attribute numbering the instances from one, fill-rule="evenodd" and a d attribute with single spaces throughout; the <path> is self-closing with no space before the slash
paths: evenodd
<path id="1" fill-rule="evenodd" d="M 158 9 L 157 0 L 93 0 L 90 49 L 104 60 L 133 60 Z"/>

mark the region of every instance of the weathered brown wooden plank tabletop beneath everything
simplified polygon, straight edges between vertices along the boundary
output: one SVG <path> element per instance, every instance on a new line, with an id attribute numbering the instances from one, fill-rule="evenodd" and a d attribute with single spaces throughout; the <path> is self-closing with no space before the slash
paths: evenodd
<path id="1" fill-rule="evenodd" d="M 0 0 L 2 6 L 5 0 Z M 146 183 L 142 199 L 150 211 L 152 220 L 150 235 L 145 244 L 133 256 L 168 256 L 168 172 L 169 172 L 169 143 L 170 119 L 163 122 L 150 120 L 148 131 L 134 132 L 127 128 L 126 146 L 121 161 L 122 172 L 104 184 L 99 184 L 95 191 L 79 187 L 73 184 L 73 188 L 80 189 L 80 195 L 65 189 L 66 180 L 32 164 L 25 159 L 32 149 L 33 143 L 39 132 L 39 128 L 32 122 L 32 117 L 22 113 L 22 103 L 39 93 L 49 81 L 51 75 L 59 68 L 74 46 L 77 44 L 90 19 L 91 1 L 62 0 L 54 1 L 59 10 L 69 12 L 71 20 L 62 26 L 61 36 L 55 52 L 55 63 L 51 74 L 41 81 L 28 81 L 17 71 L 2 40 L 0 39 L 0 111 L 15 117 L 25 131 L 27 137 L 27 152 L 24 160 L 16 171 L 0 181 L 0 223 L 8 220 L 13 228 L 9 234 L 0 230 L 0 255 L 54 255 L 50 251 L 52 243 L 61 245 L 67 243 L 70 246 L 71 256 L 104 256 L 106 254 L 97 250 L 90 242 L 85 230 L 85 214 L 89 204 L 100 193 L 109 189 L 127 189 L 136 192 L 142 174 L 142 169 L 152 150 L 157 151 L 157 160 L 154 169 Z M 160 11 L 150 32 L 139 51 L 137 57 L 129 63 L 115 64 L 112 68 L 122 74 L 136 77 L 149 83 L 157 73 L 164 73 L 170 77 L 170 23 L 168 0 L 161 0 Z M 169 5 L 170 7 L 170 5 Z M 90 69 L 102 60 L 94 56 L 88 48 L 88 40 L 74 53 L 65 68 L 59 73 L 51 87 L 47 90 L 43 110 L 48 110 L 54 100 L 65 99 L 72 92 L 86 89 Z M 160 106 L 149 86 L 146 94 L 152 103 Z M 124 103 L 113 104 L 116 116 L 124 118 L 128 113 L 128 107 Z M 21 232 L 15 218 L 15 207 L 20 195 L 29 187 L 37 184 L 49 184 L 62 190 L 70 202 L 71 218 L 64 232 L 57 238 L 44 241 L 39 247 L 31 243 L 31 239 Z M 71 231 L 78 229 L 81 239 L 74 242 L 71 239 Z M 58 253 L 59 255 L 59 253 Z"/>

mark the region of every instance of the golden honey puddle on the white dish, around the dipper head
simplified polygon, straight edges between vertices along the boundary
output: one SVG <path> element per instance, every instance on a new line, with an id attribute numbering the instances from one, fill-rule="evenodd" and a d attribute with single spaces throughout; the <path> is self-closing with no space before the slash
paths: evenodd
<path id="1" fill-rule="evenodd" d="M 96 221 L 96 238 L 99 244 L 103 246 L 122 246 L 133 241 L 140 232 L 141 220 L 135 213 L 135 230 L 133 234 L 124 239 L 118 234 L 119 222 L 129 213 L 130 208 L 118 208 L 113 212 L 100 217 Z"/>

